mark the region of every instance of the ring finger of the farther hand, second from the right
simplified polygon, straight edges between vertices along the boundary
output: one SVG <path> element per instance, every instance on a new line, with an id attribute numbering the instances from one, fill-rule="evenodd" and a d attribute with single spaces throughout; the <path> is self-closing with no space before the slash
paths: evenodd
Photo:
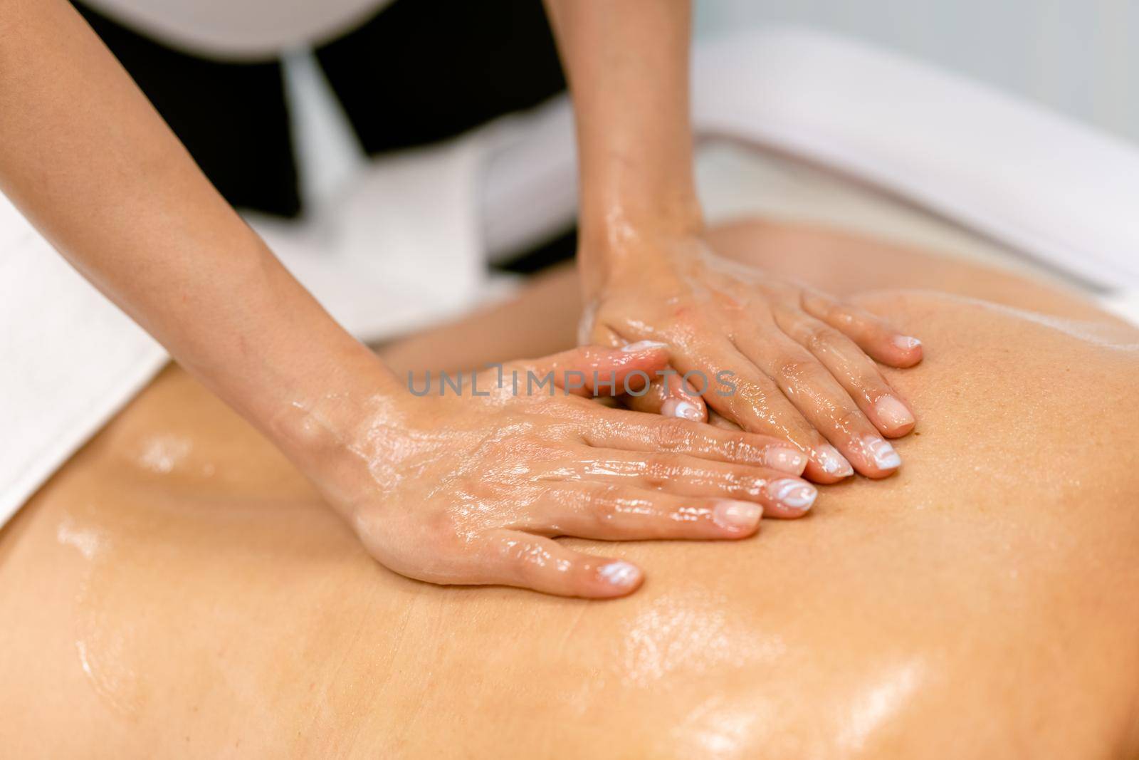
<path id="1" fill-rule="evenodd" d="M 884 435 L 898 438 L 913 430 L 909 407 L 849 337 L 797 310 L 778 310 L 776 322 L 819 360 Z"/>

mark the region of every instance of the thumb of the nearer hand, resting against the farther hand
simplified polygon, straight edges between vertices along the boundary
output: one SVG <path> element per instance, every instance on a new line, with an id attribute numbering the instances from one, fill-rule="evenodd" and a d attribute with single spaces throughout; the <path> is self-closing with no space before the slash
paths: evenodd
<path id="1" fill-rule="evenodd" d="M 664 343 L 653 341 L 622 349 L 585 345 L 522 362 L 522 384 L 526 394 L 535 389 L 552 393 L 557 386 L 575 395 L 618 395 L 642 390 L 667 361 Z"/>

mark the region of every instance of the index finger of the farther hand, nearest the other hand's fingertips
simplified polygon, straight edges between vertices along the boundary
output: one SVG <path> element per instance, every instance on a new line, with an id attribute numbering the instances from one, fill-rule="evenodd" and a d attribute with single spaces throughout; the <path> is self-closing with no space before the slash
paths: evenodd
<path id="1" fill-rule="evenodd" d="M 685 371 L 718 368 L 716 386 L 705 393 L 705 401 L 744 430 L 786 441 L 805 453 L 803 472 L 810 480 L 834 483 L 854 474 L 846 458 L 800 414 L 775 381 L 727 340 L 706 343 L 698 354 L 674 351 L 673 362 Z"/>

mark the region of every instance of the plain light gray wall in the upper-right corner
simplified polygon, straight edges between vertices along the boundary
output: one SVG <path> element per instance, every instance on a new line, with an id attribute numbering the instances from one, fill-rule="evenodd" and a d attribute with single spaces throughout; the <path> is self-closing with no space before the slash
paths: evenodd
<path id="1" fill-rule="evenodd" d="M 1139 0 L 696 0 L 697 35 L 777 22 L 910 54 L 1139 144 Z"/>

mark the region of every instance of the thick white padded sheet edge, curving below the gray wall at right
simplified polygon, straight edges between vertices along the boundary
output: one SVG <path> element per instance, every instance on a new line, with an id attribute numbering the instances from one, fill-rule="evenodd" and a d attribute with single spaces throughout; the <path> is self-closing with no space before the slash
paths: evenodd
<path id="1" fill-rule="evenodd" d="M 829 34 L 740 34 L 695 60 L 702 132 L 846 172 L 1104 289 L 1139 288 L 1136 146 Z"/>

